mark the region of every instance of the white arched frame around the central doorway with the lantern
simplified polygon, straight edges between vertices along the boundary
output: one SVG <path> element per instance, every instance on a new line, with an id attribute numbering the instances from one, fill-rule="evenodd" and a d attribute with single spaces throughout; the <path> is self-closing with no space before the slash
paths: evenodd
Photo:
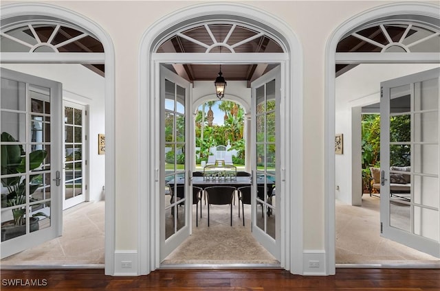
<path id="1" fill-rule="evenodd" d="M 206 19 L 234 19 L 261 27 L 277 36 L 290 54 L 155 54 L 155 49 L 168 35 L 186 25 Z M 248 5 L 237 3 L 203 3 L 167 15 L 153 24 L 144 34 L 140 48 L 139 96 L 139 274 L 147 275 L 159 267 L 159 209 L 157 196 L 157 141 L 151 138 L 157 124 L 157 97 L 159 96 L 159 65 L 172 63 L 260 63 L 283 64 L 281 71 L 281 98 L 285 100 L 283 116 L 285 128 L 281 135 L 285 143 L 286 189 L 296 189 L 294 195 L 280 193 L 285 202 L 281 209 L 281 266 L 294 274 L 303 274 L 303 60 L 302 48 L 291 28 L 280 19 Z M 280 58 L 281 56 L 281 58 Z M 146 114 L 148 113 L 148 114 Z M 145 125 L 148 124 L 148 128 Z M 155 165 L 152 167 L 151 165 Z M 151 193 L 147 196 L 145 193 Z M 278 193 L 277 193 L 278 194 Z M 148 209 L 148 211 L 146 211 Z M 291 223 L 292 222 L 292 223 Z M 292 238 L 292 239 L 291 239 Z"/>

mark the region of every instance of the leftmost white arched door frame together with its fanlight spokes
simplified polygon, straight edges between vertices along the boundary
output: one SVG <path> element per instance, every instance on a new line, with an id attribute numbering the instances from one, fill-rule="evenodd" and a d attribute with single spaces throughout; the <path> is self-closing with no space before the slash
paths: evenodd
<path id="1" fill-rule="evenodd" d="M 63 19 L 61 21 L 60 19 Z M 47 51 L 47 48 L 50 48 L 52 45 L 53 38 L 50 36 L 55 36 L 55 33 L 52 33 L 47 38 L 41 38 L 42 34 L 36 32 L 35 27 L 39 26 L 39 24 L 44 22 L 52 23 L 53 30 L 52 32 L 59 32 L 61 26 L 65 27 L 75 27 L 77 31 L 83 32 L 83 34 L 89 34 L 92 38 L 96 39 L 98 42 L 102 43 L 103 52 L 101 53 L 93 53 L 91 50 L 87 50 L 87 47 L 84 45 L 80 45 L 82 51 L 80 53 L 64 53 L 64 54 L 51 54 L 50 52 L 45 52 L 45 54 L 34 54 L 33 50 L 30 52 L 23 52 L 21 54 L 14 53 L 3 53 L 1 57 L 2 63 L 72 63 L 72 64 L 96 64 L 96 65 L 104 65 L 105 66 L 105 79 L 104 79 L 104 91 L 105 91 L 105 133 L 106 133 L 106 141 L 107 141 L 107 150 L 106 150 L 106 168 L 105 168 L 105 187 L 106 187 L 106 211 L 105 211 L 105 273 L 107 275 L 113 275 L 114 273 L 114 251 L 115 251 L 115 137 L 114 137 L 114 52 L 113 52 L 113 44 L 108 34 L 102 30 L 101 27 L 93 23 L 89 19 L 86 19 L 75 12 L 70 12 L 64 8 L 58 8 L 54 5 L 48 5 L 45 3 L 19 3 L 19 4 L 11 4 L 2 6 L 2 14 L 1 14 L 1 27 L 2 32 L 3 29 L 9 28 L 14 29 L 15 27 L 19 27 L 23 25 L 23 21 L 27 23 L 35 24 L 30 25 L 30 32 L 34 36 L 36 43 L 34 44 L 36 51 Z M 58 26 L 59 25 L 59 26 Z M 37 28 L 38 30 L 38 28 Z M 68 28 L 67 28 L 68 30 Z M 68 34 L 67 34 L 68 35 Z M 2 34 L 2 37 L 4 35 Z M 67 43 L 74 42 L 76 39 L 82 38 L 82 34 L 78 34 L 74 37 L 67 37 Z M 7 36 L 4 36 L 8 38 Z M 64 38 L 66 35 L 63 36 Z M 76 38 L 78 37 L 78 38 Z M 70 38 L 70 39 L 69 39 Z M 75 39 L 76 38 L 76 39 Z M 50 42 L 48 40 L 51 40 Z M 65 39 L 66 40 L 66 39 Z M 20 42 L 19 42 L 20 43 Z M 21 42 L 22 45 L 25 42 Z M 23 45 L 24 47 L 28 47 L 28 49 L 32 49 L 32 46 Z M 57 43 L 52 47 L 52 50 L 55 51 L 54 47 L 61 48 L 63 46 L 63 40 L 58 39 Z M 72 48 L 72 47 L 71 47 Z M 57 48 L 58 49 L 58 48 Z M 67 51 L 69 51 L 67 49 Z M 39 55 L 39 56 L 37 56 Z M 98 66 L 99 67 L 99 66 Z"/>

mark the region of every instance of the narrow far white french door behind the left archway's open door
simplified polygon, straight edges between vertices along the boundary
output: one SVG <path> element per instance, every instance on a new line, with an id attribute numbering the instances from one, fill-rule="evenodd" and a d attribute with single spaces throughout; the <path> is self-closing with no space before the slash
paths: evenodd
<path id="1" fill-rule="evenodd" d="M 86 108 L 64 101 L 63 210 L 86 200 Z"/>

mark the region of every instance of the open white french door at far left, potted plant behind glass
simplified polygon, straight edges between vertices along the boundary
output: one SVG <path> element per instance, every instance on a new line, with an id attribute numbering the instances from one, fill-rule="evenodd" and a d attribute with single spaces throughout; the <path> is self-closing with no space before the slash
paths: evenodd
<path id="1" fill-rule="evenodd" d="M 61 83 L 1 68 L 1 257 L 62 235 Z"/>

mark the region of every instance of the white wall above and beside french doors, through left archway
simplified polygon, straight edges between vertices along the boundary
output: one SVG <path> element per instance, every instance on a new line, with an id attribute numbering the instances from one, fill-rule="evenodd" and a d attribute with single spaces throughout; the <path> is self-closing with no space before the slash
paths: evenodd
<path id="1" fill-rule="evenodd" d="M 1 67 L 63 84 L 63 100 L 89 105 L 89 200 L 102 199 L 105 156 L 98 155 L 98 133 L 104 133 L 104 78 L 83 65 L 2 64 Z"/>

